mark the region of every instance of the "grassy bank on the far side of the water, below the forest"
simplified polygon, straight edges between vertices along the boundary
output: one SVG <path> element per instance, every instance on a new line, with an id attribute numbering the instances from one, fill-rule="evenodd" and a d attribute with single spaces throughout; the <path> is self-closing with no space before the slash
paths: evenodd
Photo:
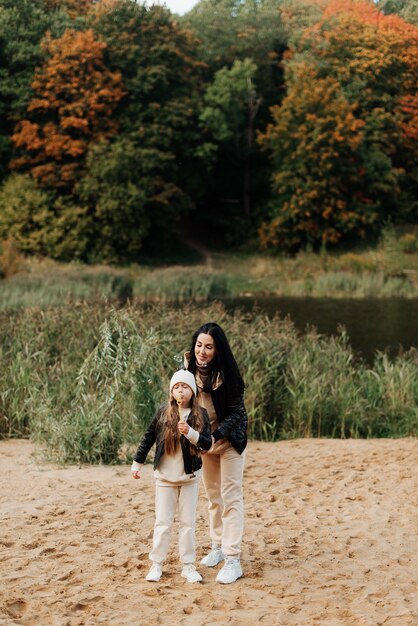
<path id="1" fill-rule="evenodd" d="M 294 258 L 213 253 L 206 261 L 114 268 L 3 254 L 0 308 L 48 307 L 66 299 L 143 303 L 242 295 L 418 297 L 418 234 L 412 230 L 388 230 L 377 247 L 355 252 L 301 252 Z"/>

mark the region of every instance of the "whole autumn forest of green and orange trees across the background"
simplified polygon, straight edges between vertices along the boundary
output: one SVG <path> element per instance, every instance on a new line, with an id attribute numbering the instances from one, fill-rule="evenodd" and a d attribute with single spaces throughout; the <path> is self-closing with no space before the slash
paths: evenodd
<path id="1" fill-rule="evenodd" d="M 414 0 L 0 0 L 0 241 L 126 264 L 417 221 Z"/>

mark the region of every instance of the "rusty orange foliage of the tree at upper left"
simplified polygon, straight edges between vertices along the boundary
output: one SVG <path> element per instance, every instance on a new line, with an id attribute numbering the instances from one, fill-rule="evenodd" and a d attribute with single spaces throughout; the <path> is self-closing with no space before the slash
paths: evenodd
<path id="1" fill-rule="evenodd" d="M 40 183 L 71 187 L 90 144 L 116 132 L 112 115 L 124 92 L 120 73 L 105 66 L 105 48 L 92 30 L 46 36 L 49 58 L 32 83 L 30 119 L 12 136 L 19 149 L 12 167 L 30 169 Z"/>

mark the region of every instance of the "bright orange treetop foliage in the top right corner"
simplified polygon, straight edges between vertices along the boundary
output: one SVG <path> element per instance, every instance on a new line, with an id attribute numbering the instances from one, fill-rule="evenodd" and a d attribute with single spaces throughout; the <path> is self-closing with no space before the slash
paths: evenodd
<path id="1" fill-rule="evenodd" d="M 381 95 L 376 89 L 398 98 L 399 111 L 405 97 L 409 105 L 417 97 L 418 28 L 396 14 L 384 15 L 372 3 L 329 0 L 321 20 L 305 32 L 302 47 L 326 59 L 327 71 L 338 73 L 342 85 L 367 81 L 369 91 L 361 94 L 366 104 L 368 96 L 375 102 Z"/>

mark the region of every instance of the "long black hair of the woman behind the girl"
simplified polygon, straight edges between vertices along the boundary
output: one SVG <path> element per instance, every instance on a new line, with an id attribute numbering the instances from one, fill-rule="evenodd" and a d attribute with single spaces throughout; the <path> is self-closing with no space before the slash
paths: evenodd
<path id="1" fill-rule="evenodd" d="M 218 374 L 223 381 L 240 393 L 244 391 L 244 381 L 239 372 L 237 362 L 232 354 L 231 346 L 222 328 L 216 322 L 207 322 L 203 324 L 192 337 L 192 346 L 190 348 L 188 370 L 192 374 L 196 374 L 197 364 L 195 347 L 196 341 L 200 334 L 210 335 L 215 343 L 216 354 L 212 363 L 208 367 L 208 380 L 205 385 L 205 391 L 210 391 L 216 382 Z"/>

